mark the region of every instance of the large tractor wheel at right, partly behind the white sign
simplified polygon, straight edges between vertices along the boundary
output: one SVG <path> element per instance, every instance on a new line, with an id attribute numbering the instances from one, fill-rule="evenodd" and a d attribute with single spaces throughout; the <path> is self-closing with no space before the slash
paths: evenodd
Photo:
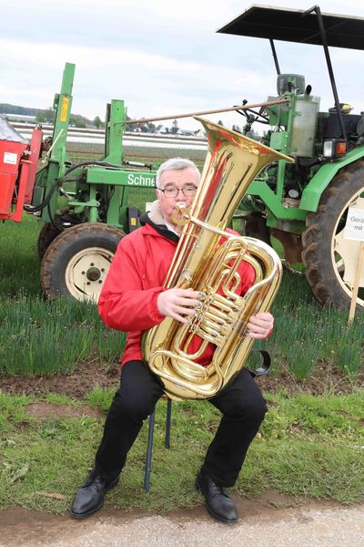
<path id="1" fill-rule="evenodd" d="M 360 197 L 361 196 L 361 197 Z M 357 202 L 356 202 L 357 201 Z M 357 268 L 359 241 L 344 239 L 348 209 L 364 210 L 364 161 L 339 171 L 323 192 L 317 212 L 306 219 L 302 234 L 302 262 L 306 277 L 319 302 L 348 308 Z M 357 308 L 364 306 L 364 272 L 361 273 Z"/>

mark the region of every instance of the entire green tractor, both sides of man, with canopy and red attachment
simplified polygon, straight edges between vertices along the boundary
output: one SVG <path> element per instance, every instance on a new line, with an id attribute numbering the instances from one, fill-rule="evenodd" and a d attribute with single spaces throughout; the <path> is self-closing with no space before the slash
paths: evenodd
<path id="1" fill-rule="evenodd" d="M 345 226 L 349 208 L 364 216 L 364 116 L 350 114 L 349 105 L 339 101 L 329 46 L 364 49 L 364 19 L 321 14 L 318 6 L 303 12 L 253 5 L 218 32 L 268 38 L 277 92 L 258 110 L 243 101 L 238 111 L 246 118 L 245 132 L 254 122 L 266 124 L 264 143 L 294 159 L 269 164 L 259 173 L 234 224 L 268 243 L 271 236 L 278 239 L 284 262 L 290 268 L 304 264 L 322 304 L 349 306 L 360 241 L 346 239 Z M 305 77 L 280 73 L 274 40 L 323 46 L 333 108 L 319 111 L 319 97 Z M 150 166 L 124 160 L 121 100 L 106 109 L 103 158 L 77 164 L 67 160 L 74 70 L 66 64 L 51 139 L 35 129 L 31 143 L 16 151 L 15 139 L 2 139 L 0 132 L 0 219 L 20 221 L 24 209 L 44 222 L 38 251 L 42 287 L 50 298 L 97 298 L 117 243 L 138 225 L 133 192 L 136 186 L 150 189 L 155 181 Z M 362 310 L 364 271 L 357 304 Z"/>

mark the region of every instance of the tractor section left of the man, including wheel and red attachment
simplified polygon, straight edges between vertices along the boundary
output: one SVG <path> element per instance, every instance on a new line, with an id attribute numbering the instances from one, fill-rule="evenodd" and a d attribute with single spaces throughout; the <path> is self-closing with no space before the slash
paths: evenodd
<path id="1" fill-rule="evenodd" d="M 75 65 L 66 63 L 52 137 L 38 127 L 28 144 L 1 119 L 0 219 L 21 222 L 24 210 L 43 222 L 38 253 L 46 297 L 96 301 L 117 244 L 137 227 L 139 212 L 131 205 L 137 192 L 144 191 L 143 203 L 146 196 L 154 199 L 155 171 L 151 164 L 123 160 L 122 100 L 107 105 L 103 157 L 76 164 L 67 159 L 74 75 Z"/>

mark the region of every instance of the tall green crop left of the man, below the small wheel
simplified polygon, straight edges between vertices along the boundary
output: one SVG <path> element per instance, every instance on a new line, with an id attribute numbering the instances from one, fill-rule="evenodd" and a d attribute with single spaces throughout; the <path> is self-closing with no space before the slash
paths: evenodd
<path id="1" fill-rule="evenodd" d="M 0 296 L 0 371 L 7 376 L 71 373 L 82 360 L 105 368 L 119 359 L 125 335 L 100 321 L 96 306 L 19 294 Z"/>

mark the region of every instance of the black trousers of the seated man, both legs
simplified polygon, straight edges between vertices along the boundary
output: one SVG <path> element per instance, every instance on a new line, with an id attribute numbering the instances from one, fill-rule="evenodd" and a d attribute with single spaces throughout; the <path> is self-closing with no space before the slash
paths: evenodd
<path id="1" fill-rule="evenodd" d="M 120 387 L 108 411 L 104 436 L 96 453 L 96 470 L 106 480 L 115 479 L 123 469 L 143 420 L 153 412 L 162 395 L 157 377 L 145 363 L 129 361 L 123 366 Z M 208 402 L 223 416 L 207 450 L 203 470 L 219 486 L 232 486 L 263 421 L 266 403 L 246 368 Z"/>

